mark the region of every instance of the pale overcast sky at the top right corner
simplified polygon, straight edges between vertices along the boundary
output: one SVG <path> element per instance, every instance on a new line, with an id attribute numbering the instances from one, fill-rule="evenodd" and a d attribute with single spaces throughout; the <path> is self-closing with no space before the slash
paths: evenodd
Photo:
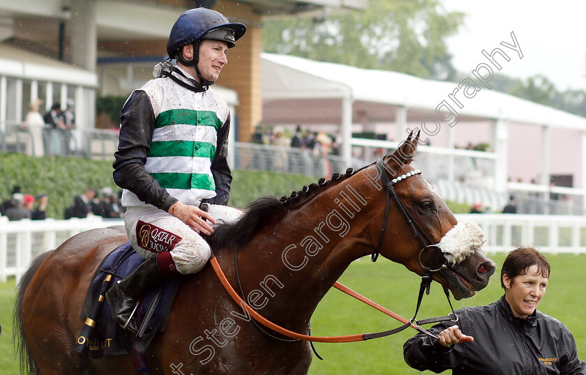
<path id="1" fill-rule="evenodd" d="M 511 59 L 500 72 L 510 77 L 545 75 L 559 90 L 586 90 L 586 1 L 582 0 L 442 0 L 446 10 L 466 14 L 457 36 L 448 40 L 453 65 L 471 72 L 486 63 L 481 54 L 501 48 Z M 500 45 L 513 43 L 523 53 Z M 510 52 L 510 53 L 509 53 Z M 500 60 L 499 60 L 500 59 Z"/>

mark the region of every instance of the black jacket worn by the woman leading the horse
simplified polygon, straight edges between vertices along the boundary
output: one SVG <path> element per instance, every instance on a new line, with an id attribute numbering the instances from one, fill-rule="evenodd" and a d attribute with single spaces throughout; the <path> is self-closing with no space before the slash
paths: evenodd
<path id="1" fill-rule="evenodd" d="M 405 342 L 405 362 L 414 369 L 453 374 L 586 374 L 576 342 L 563 323 L 535 311 L 527 319 L 513 316 L 504 296 L 488 306 L 456 310 L 460 330 L 474 342 L 449 348 L 418 333 Z M 455 323 L 431 328 L 438 334 Z"/>

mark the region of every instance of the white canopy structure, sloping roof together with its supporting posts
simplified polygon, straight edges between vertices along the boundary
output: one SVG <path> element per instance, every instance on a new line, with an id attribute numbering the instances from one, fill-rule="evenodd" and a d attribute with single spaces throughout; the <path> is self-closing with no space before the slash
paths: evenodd
<path id="1" fill-rule="evenodd" d="M 443 134 L 447 147 L 428 146 L 425 150 L 433 155 L 449 155 L 446 166 L 449 181 L 455 181 L 456 158 L 485 158 L 494 160 L 491 171 L 487 173 L 492 178 L 490 185 L 495 191 L 504 193 L 519 188 L 536 191 L 536 185 L 520 187 L 507 181 L 509 162 L 515 160 L 520 152 L 513 144 L 509 145 L 509 132 L 513 129 L 509 124 L 515 125 L 516 133 L 511 135 L 518 135 L 518 129 L 527 124 L 535 128 L 529 141 L 533 148 L 526 149 L 530 157 L 539 159 L 539 170 L 533 170 L 533 166 L 531 171 L 539 175 L 539 189 L 550 189 L 552 157 L 555 156 L 555 161 L 559 163 L 559 151 L 571 151 L 571 160 L 574 160 L 570 163 L 571 167 L 564 169 L 556 164 L 556 169 L 563 169 L 563 174 L 574 176 L 574 186 L 578 189 L 569 190 L 569 194 L 583 195 L 586 205 L 586 118 L 488 89 L 472 72 L 462 82 L 438 82 L 398 72 L 361 69 L 296 56 L 264 53 L 261 57 L 263 121 L 270 124 L 339 126 L 341 155 L 347 164 L 352 159 L 352 145 L 386 147 L 392 143 L 354 139 L 353 124 L 394 123 L 396 139 L 403 139 L 407 125 L 423 128 L 419 124 L 426 123 L 429 118 L 441 120 L 438 123 L 447 125 L 449 116 L 457 116 L 457 121 L 490 123 L 489 137 L 493 151 L 474 154 L 474 151 L 458 150 L 455 148 L 455 128 L 442 127 L 447 129 Z M 467 86 L 469 90 L 465 91 Z M 557 138 L 550 137 L 550 128 L 573 138 L 560 142 L 557 135 Z M 564 144 L 569 140 L 573 142 L 571 150 Z M 535 149 L 539 153 L 532 153 Z M 514 155 L 513 151 L 516 152 Z M 511 165 L 516 171 L 523 168 L 518 163 Z"/>

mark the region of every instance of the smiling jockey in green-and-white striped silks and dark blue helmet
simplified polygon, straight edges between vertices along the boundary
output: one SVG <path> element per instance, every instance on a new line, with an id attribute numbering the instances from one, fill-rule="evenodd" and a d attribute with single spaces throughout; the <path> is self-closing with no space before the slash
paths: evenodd
<path id="1" fill-rule="evenodd" d="M 106 298 L 114 321 L 133 332 L 138 327 L 130 318 L 144 292 L 172 275 L 200 271 L 211 257 L 200 234 L 209 236 L 216 220 L 241 216 L 225 206 L 230 110 L 210 86 L 244 33 L 245 25 L 215 10 L 181 14 L 167 42 L 169 59 L 122 109 L 114 182 L 123 188 L 130 244 L 147 260 Z"/>

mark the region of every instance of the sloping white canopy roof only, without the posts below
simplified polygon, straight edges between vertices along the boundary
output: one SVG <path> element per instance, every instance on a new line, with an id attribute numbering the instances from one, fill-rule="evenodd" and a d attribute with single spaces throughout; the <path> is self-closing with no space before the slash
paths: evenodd
<path id="1" fill-rule="evenodd" d="M 366 110 L 368 118 L 373 121 L 394 120 L 396 107 L 409 109 L 409 121 L 421 121 L 436 116 L 436 107 L 446 100 L 459 116 L 467 120 L 500 119 L 586 130 L 586 118 L 489 90 L 472 74 L 469 78 L 479 86 L 480 91 L 473 98 L 464 96 L 464 88 L 456 93 L 455 97 L 463 105 L 460 109 L 448 96 L 458 89 L 459 83 L 421 79 L 388 70 L 323 63 L 296 56 L 263 53 L 261 57 L 262 95 L 267 104 L 264 120 L 268 122 L 340 123 L 340 110 L 332 111 L 331 105 L 341 98 L 353 100 L 354 114 Z M 315 99 L 320 99 L 320 102 Z"/>

